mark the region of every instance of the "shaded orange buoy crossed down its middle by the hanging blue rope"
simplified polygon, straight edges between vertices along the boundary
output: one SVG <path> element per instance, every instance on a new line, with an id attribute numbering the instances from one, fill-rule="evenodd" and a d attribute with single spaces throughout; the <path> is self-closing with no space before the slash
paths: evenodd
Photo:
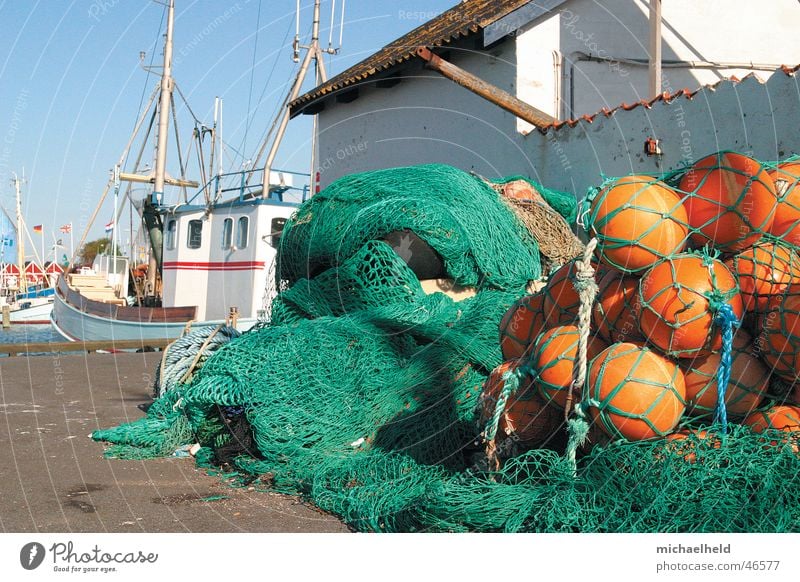
<path id="1" fill-rule="evenodd" d="M 728 416 L 745 416 L 755 410 L 769 389 L 770 372 L 761 360 L 749 351 L 750 336 L 740 331 L 731 353 L 731 375 L 725 389 Z M 686 381 L 686 413 L 691 416 L 711 415 L 717 408 L 717 370 L 721 365 L 718 353 L 684 360 L 678 364 Z"/>

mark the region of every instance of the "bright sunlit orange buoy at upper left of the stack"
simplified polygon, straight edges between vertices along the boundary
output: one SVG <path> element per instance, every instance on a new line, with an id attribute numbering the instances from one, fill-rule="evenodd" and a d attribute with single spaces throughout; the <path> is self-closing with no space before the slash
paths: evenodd
<path id="1" fill-rule="evenodd" d="M 600 257 L 622 271 L 643 271 L 686 246 L 680 196 L 650 176 L 625 176 L 603 188 L 589 217 Z"/>

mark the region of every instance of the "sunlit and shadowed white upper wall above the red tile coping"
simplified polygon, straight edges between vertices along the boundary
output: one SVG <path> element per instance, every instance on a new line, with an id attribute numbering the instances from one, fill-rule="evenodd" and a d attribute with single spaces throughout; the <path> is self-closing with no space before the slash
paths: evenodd
<path id="1" fill-rule="evenodd" d="M 519 31 L 518 64 L 541 83 L 537 91 L 521 93 L 520 98 L 534 104 L 553 101 L 558 87 L 549 80 L 554 74 L 550 51 L 558 50 L 563 57 L 562 118 L 649 100 L 646 62 L 628 62 L 648 59 L 648 18 L 649 2 L 642 0 L 572 0 L 535 20 Z M 741 78 L 753 70 L 766 78 L 780 65 L 800 63 L 800 3 L 795 0 L 669 0 L 662 3 L 662 21 L 662 88 L 670 93 Z M 587 61 L 587 55 L 615 62 Z M 699 68 L 669 61 L 722 66 Z"/>

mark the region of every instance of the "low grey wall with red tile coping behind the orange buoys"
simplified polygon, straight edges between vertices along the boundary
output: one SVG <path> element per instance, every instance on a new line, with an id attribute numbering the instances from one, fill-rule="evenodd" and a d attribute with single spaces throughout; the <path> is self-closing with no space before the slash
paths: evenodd
<path id="1" fill-rule="evenodd" d="M 545 186 L 582 197 L 605 176 L 659 173 L 680 168 L 720 150 L 760 160 L 800 153 L 800 79 L 782 71 L 766 84 L 754 77 L 725 81 L 693 98 L 658 101 L 651 108 L 617 110 L 589 123 L 563 126 L 522 137 L 537 160 L 535 172 Z M 662 156 L 646 156 L 644 141 L 661 140 Z"/>

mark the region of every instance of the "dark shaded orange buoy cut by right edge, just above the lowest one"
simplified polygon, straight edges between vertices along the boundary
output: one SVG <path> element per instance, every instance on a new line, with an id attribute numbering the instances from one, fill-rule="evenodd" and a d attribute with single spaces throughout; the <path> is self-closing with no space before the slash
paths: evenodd
<path id="1" fill-rule="evenodd" d="M 786 382 L 800 381 L 800 285 L 773 296 L 759 322 L 761 357 Z"/>

